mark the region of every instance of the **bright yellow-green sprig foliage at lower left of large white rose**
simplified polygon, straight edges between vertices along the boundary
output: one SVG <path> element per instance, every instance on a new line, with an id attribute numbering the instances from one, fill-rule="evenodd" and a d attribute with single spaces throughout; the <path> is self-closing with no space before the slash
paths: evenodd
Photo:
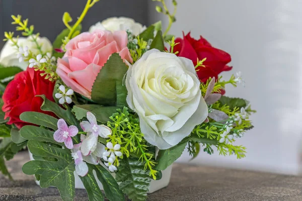
<path id="1" fill-rule="evenodd" d="M 156 163 L 155 149 L 147 145 L 143 139 L 143 134 L 140 131 L 139 119 L 137 116 L 128 112 L 128 108 L 124 107 L 110 117 L 107 126 L 111 128 L 112 134 L 109 136 L 110 142 L 113 145 L 120 144 L 120 151 L 126 157 L 137 157 L 138 160 L 144 163 L 144 170 L 149 169 L 150 176 L 156 179 L 157 170 L 154 169 Z M 118 166 L 119 162 L 116 159 L 114 165 Z"/>

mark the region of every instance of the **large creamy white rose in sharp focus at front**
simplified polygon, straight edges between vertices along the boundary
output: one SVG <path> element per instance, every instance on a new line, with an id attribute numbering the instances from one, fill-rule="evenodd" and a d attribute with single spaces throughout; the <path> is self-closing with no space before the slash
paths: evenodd
<path id="1" fill-rule="evenodd" d="M 144 138 L 159 149 L 177 145 L 208 116 L 193 62 L 149 50 L 130 65 L 127 104 L 140 120 Z"/>

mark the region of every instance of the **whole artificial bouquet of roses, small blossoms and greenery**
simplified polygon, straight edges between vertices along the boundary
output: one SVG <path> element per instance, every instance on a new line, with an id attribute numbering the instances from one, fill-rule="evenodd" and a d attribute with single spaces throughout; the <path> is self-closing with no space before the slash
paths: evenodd
<path id="1" fill-rule="evenodd" d="M 6 32 L 0 56 L 2 173 L 11 177 L 5 159 L 27 146 L 33 160 L 23 172 L 42 188 L 57 187 L 63 200 L 73 200 L 80 176 L 89 200 L 104 200 L 104 190 L 109 200 L 136 201 L 186 148 L 192 158 L 201 148 L 245 157 L 234 143 L 253 127 L 255 111 L 247 100 L 224 96 L 226 84 L 244 83 L 240 73 L 219 76 L 232 69 L 231 56 L 202 37 L 168 35 L 176 19 L 164 0 L 156 7 L 169 18 L 164 33 L 160 22 L 146 28 L 127 18 L 81 33 L 98 1 L 88 0 L 74 25 L 64 13 L 66 29 L 52 45 L 12 16 L 27 38 Z M 11 66 L 16 59 L 24 71 Z"/>

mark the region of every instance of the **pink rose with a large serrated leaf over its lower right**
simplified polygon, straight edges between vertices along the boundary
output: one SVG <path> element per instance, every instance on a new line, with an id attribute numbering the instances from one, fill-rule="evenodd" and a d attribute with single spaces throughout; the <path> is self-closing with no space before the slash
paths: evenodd
<path id="1" fill-rule="evenodd" d="M 58 59 L 56 72 L 75 92 L 91 98 L 93 83 L 113 53 L 132 62 L 127 43 L 125 31 L 82 33 L 66 44 L 66 53 Z"/>

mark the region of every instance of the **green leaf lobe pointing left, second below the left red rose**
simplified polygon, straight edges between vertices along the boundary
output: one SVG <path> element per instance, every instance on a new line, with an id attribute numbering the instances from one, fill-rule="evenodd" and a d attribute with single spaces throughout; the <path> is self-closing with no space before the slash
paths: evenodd
<path id="1" fill-rule="evenodd" d="M 20 134 L 26 140 L 38 140 L 40 142 L 50 142 L 63 146 L 62 143 L 53 139 L 54 132 L 36 126 L 24 126 L 20 129 Z"/>

